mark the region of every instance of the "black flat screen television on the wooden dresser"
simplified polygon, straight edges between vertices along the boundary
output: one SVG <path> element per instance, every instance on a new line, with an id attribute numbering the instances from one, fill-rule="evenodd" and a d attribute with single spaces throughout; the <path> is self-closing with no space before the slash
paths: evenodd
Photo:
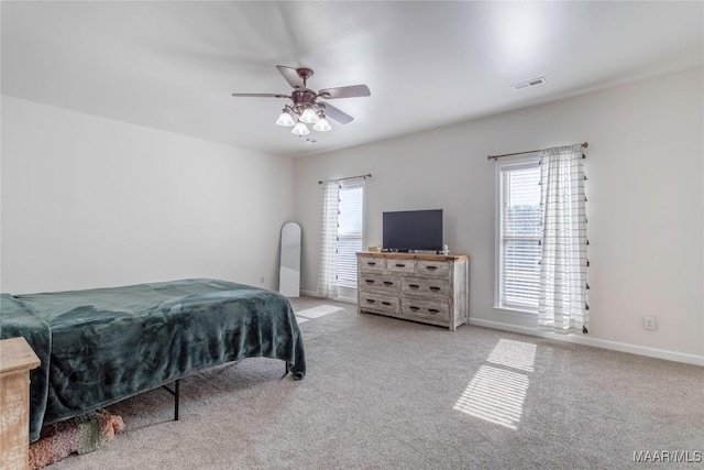
<path id="1" fill-rule="evenodd" d="M 442 209 L 402 210 L 382 216 L 384 250 L 442 250 Z"/>

